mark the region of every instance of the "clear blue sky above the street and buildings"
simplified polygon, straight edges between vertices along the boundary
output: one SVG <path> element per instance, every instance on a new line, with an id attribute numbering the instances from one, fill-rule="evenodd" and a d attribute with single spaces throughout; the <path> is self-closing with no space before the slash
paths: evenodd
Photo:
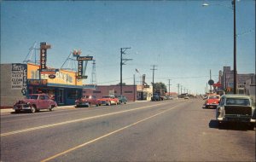
<path id="1" fill-rule="evenodd" d="M 203 3 L 209 6 L 202 7 Z M 226 1 L 1 1 L 1 63 L 22 63 L 30 48 L 51 44 L 47 66 L 61 68 L 73 49 L 96 60 L 97 84 L 119 84 L 135 75 L 146 83 L 180 84 L 203 94 L 223 67 L 233 69 L 233 10 Z M 255 73 L 255 1 L 236 1 L 238 73 Z M 39 51 L 36 51 L 37 59 Z M 32 55 L 32 60 L 34 59 Z M 63 68 L 72 67 L 69 61 Z M 74 65 L 76 67 L 76 65 Z M 136 69 L 138 72 L 136 72 Z M 92 61 L 85 84 L 90 84 Z M 168 89 L 168 85 L 167 85 Z"/>

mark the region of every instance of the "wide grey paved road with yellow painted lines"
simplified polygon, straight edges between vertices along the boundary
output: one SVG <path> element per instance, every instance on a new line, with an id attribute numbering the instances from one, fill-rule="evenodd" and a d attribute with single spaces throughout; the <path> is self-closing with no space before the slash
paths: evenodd
<path id="1" fill-rule="evenodd" d="M 1 114 L 1 161 L 255 161 L 255 130 L 197 99 Z"/>

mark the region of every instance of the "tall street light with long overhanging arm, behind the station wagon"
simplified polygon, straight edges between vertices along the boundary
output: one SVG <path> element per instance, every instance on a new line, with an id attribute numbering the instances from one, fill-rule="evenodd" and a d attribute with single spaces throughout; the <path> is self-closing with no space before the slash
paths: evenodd
<path id="1" fill-rule="evenodd" d="M 219 6 L 224 6 L 221 4 L 216 4 Z M 208 3 L 203 3 L 202 4 L 203 7 L 207 7 L 209 6 Z M 224 7 L 228 7 L 228 6 L 224 6 Z M 236 94 L 236 88 L 237 88 L 237 83 L 236 83 L 236 0 L 232 0 L 232 8 L 228 7 L 229 9 L 233 10 L 233 14 L 234 14 L 234 94 Z"/>

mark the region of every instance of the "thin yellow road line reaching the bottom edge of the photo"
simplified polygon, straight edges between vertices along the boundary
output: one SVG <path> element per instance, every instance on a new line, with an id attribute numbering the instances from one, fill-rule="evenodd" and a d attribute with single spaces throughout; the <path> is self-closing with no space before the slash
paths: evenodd
<path id="1" fill-rule="evenodd" d="M 177 105 L 177 106 L 178 106 L 178 105 Z M 112 132 L 110 132 L 110 133 L 108 133 L 108 134 L 106 134 L 106 135 L 97 137 L 96 139 L 91 140 L 90 142 L 85 142 L 85 143 L 80 144 L 79 146 L 76 146 L 76 147 L 74 147 L 74 148 L 69 148 L 69 149 L 67 149 L 66 151 L 63 151 L 63 152 L 61 152 L 61 153 L 57 153 L 57 154 L 55 154 L 55 155 L 53 155 L 53 156 L 51 156 L 51 157 L 49 157 L 49 158 L 47 158 L 47 159 L 43 159 L 43 160 L 41 160 L 41 162 L 46 162 L 46 161 L 49 161 L 49 160 L 51 160 L 51 159 L 55 159 L 55 158 L 57 158 L 57 157 L 59 157 L 59 156 L 65 154 L 65 153 L 69 153 L 69 152 L 72 152 L 73 150 L 76 150 L 76 149 L 79 149 L 79 148 L 83 148 L 83 147 L 89 145 L 90 143 L 97 142 L 97 141 L 99 141 L 99 140 L 101 140 L 101 139 L 103 139 L 103 138 L 105 138 L 105 137 L 108 137 L 108 136 L 111 136 L 111 135 L 113 135 L 113 134 L 116 134 L 116 133 L 118 133 L 118 132 L 121 131 L 121 130 L 128 129 L 128 128 L 130 128 L 131 126 L 134 126 L 134 125 L 136 125 L 136 124 L 140 124 L 140 123 L 142 123 L 143 121 L 146 121 L 146 120 L 148 120 L 148 119 L 152 119 L 152 118 L 154 118 L 155 116 L 158 116 L 158 115 L 160 115 L 160 114 L 162 114 L 162 113 L 166 113 L 166 112 L 168 112 L 168 111 L 170 111 L 170 110 L 176 108 L 177 106 L 172 107 L 172 108 L 169 108 L 169 109 L 166 109 L 166 110 L 164 110 L 164 111 L 162 111 L 162 112 L 160 112 L 160 113 L 155 113 L 154 115 L 149 116 L 148 118 L 141 119 L 141 120 L 139 120 L 139 121 L 137 121 L 137 122 L 135 122 L 135 123 L 133 123 L 133 124 L 129 124 L 129 125 L 123 127 L 123 128 L 120 128 L 119 130 L 114 130 L 114 131 L 112 131 Z M 150 106 L 150 107 L 151 107 L 151 106 Z"/>

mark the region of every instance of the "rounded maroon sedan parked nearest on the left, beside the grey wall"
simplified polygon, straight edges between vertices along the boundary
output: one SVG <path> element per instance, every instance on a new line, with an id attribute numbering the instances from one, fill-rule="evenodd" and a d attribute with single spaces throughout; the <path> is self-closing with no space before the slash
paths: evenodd
<path id="1" fill-rule="evenodd" d="M 49 98 L 49 95 L 45 94 L 31 94 L 26 95 L 26 98 L 20 101 L 16 101 L 14 104 L 15 113 L 28 110 L 31 113 L 39 112 L 41 109 L 49 109 L 52 111 L 54 107 L 57 107 L 57 103 Z"/>

